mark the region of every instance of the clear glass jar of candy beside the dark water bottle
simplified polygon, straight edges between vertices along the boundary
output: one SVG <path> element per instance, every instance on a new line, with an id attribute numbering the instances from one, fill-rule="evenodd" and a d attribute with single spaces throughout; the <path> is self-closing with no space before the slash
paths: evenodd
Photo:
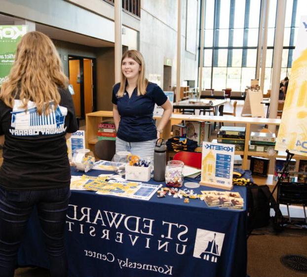
<path id="1" fill-rule="evenodd" d="M 165 168 L 165 182 L 168 187 L 182 187 L 183 184 L 183 168 L 182 161 L 168 161 Z"/>

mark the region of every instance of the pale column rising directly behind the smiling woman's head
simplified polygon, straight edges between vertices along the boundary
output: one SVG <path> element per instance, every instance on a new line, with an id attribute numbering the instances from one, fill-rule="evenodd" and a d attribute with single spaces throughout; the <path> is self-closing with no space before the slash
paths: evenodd
<path id="1" fill-rule="evenodd" d="M 114 1 L 114 23 L 115 23 L 115 83 L 120 82 L 121 74 L 121 0 Z"/>

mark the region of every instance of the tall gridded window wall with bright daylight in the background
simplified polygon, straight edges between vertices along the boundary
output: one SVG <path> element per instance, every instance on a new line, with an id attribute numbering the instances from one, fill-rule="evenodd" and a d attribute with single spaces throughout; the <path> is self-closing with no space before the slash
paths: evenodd
<path id="1" fill-rule="evenodd" d="M 255 78 L 261 0 L 204 0 L 204 61 L 202 87 L 244 91 Z M 271 83 L 277 0 L 270 0 L 265 74 Z M 290 74 L 299 20 L 307 0 L 287 0 L 281 78 Z"/>

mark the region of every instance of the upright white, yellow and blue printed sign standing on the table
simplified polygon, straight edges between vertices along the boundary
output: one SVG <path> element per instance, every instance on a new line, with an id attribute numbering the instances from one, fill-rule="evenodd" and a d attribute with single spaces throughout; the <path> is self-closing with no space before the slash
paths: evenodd
<path id="1" fill-rule="evenodd" d="M 222 189 L 232 189 L 234 145 L 203 142 L 200 184 Z"/>

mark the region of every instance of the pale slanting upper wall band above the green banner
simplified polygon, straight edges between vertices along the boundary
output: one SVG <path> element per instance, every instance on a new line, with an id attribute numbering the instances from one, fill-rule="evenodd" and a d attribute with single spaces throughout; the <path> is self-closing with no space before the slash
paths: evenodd
<path id="1" fill-rule="evenodd" d="M 63 0 L 1 0 L 0 11 L 114 42 L 114 21 Z"/>

